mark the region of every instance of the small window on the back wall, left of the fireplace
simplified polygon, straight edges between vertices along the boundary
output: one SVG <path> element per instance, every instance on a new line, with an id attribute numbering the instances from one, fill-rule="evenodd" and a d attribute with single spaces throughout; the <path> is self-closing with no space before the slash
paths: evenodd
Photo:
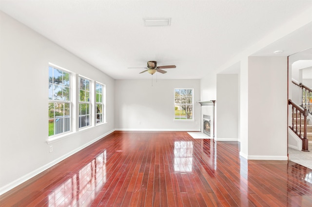
<path id="1" fill-rule="evenodd" d="M 193 120 L 193 89 L 175 89 L 175 120 Z"/>

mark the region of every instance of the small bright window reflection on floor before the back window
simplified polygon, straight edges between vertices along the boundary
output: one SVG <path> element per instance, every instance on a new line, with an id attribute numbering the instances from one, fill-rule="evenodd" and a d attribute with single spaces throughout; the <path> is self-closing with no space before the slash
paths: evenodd
<path id="1" fill-rule="evenodd" d="M 175 172 L 190 173 L 193 165 L 193 141 L 175 141 Z"/>

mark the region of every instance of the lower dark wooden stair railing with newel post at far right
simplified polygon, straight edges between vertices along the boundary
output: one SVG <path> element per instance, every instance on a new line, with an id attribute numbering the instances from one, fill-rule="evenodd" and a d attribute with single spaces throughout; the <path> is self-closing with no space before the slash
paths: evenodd
<path id="1" fill-rule="evenodd" d="M 302 151 L 309 152 L 309 139 L 307 139 L 307 117 L 309 112 L 307 108 L 302 109 L 292 100 L 288 100 L 288 104 L 292 105 L 292 126 L 289 128 L 302 140 Z M 303 132 L 302 132 L 302 116 L 303 116 Z M 298 127 L 299 125 L 299 127 Z"/>

